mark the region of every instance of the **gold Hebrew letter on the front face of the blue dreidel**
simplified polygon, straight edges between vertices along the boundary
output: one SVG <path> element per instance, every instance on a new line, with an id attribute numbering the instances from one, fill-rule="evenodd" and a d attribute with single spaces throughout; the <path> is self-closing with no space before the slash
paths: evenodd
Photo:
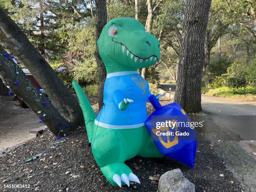
<path id="1" fill-rule="evenodd" d="M 174 140 L 170 141 L 170 136 L 166 136 L 166 138 L 167 138 L 167 143 L 166 143 L 166 142 L 164 142 L 164 140 L 162 139 L 161 136 L 158 136 L 159 137 L 159 141 L 162 143 L 163 146 L 165 146 L 165 148 L 170 148 L 170 147 L 172 147 L 174 145 L 177 145 L 179 143 L 178 136 L 176 135 L 176 132 L 178 131 L 177 122 L 176 122 L 176 120 L 172 120 L 171 122 L 173 122 L 173 125 L 175 125 L 175 137 L 174 137 Z M 159 129 L 152 129 L 152 132 L 156 135 L 156 132 L 158 130 Z M 169 127 L 166 127 L 166 126 L 161 127 L 160 131 L 166 131 L 166 133 L 168 133 Z"/>

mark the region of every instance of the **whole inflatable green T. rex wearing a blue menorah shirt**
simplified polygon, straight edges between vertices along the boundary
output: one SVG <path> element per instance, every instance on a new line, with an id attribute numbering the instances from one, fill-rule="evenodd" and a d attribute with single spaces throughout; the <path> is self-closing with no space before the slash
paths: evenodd
<path id="1" fill-rule="evenodd" d="M 107 70 L 104 105 L 97 118 L 81 87 L 72 84 L 102 173 L 114 186 L 130 186 L 130 181 L 140 181 L 124 161 L 136 155 L 162 157 L 144 126 L 146 102 L 152 95 L 137 72 L 158 61 L 159 41 L 137 20 L 116 18 L 105 25 L 97 45 Z"/>

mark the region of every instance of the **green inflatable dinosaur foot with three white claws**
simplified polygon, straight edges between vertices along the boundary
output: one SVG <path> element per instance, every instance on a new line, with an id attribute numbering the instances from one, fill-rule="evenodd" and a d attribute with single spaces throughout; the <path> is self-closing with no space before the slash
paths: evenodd
<path id="1" fill-rule="evenodd" d="M 123 184 L 127 184 L 130 187 L 130 181 L 141 183 L 131 169 L 120 161 L 102 167 L 101 171 L 114 186 L 118 185 L 121 187 Z"/>

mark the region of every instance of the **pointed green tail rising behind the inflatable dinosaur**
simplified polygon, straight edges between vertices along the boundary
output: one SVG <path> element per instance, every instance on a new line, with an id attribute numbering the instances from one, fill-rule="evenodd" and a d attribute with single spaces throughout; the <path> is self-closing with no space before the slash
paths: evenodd
<path id="1" fill-rule="evenodd" d="M 84 91 L 80 87 L 80 85 L 75 81 L 72 82 L 72 85 L 74 87 L 75 92 L 77 93 L 77 97 L 78 97 L 80 106 L 83 111 L 87 136 L 88 136 L 89 143 L 91 143 L 92 128 L 93 128 L 93 124 L 94 124 L 96 115 L 92 109 L 92 106 L 91 106 L 89 100 L 87 99 L 86 95 L 84 94 Z"/>

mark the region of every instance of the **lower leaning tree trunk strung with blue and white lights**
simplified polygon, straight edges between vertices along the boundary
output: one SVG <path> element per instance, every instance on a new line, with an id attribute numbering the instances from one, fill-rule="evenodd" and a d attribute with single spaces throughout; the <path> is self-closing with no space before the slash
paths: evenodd
<path id="1" fill-rule="evenodd" d="M 38 115 L 38 121 L 41 120 L 44 122 L 55 135 L 58 135 L 61 129 L 63 130 L 62 135 L 64 133 L 68 134 L 70 128 L 74 128 L 73 123 L 68 122 L 61 116 L 54 105 L 51 105 L 47 98 L 37 90 L 19 67 L 17 68 L 18 74 L 16 74 L 13 59 L 10 56 L 6 58 L 5 54 L 5 50 L 0 45 L 0 78 L 4 84 L 9 86 L 10 90 L 20 99 L 23 99 L 36 115 Z M 15 84 L 15 82 L 19 84 Z M 39 111 L 41 113 L 38 113 Z M 39 119 L 39 117 L 42 119 Z M 61 124 L 59 125 L 59 123 Z"/>

